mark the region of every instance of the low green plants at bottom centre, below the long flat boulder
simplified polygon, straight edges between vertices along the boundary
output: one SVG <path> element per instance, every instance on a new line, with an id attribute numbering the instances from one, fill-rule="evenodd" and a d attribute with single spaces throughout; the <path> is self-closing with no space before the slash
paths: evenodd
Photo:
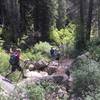
<path id="1" fill-rule="evenodd" d="M 54 83 L 42 82 L 37 85 L 29 85 L 26 87 L 30 100 L 45 100 L 45 94 L 54 92 L 58 86 Z"/>

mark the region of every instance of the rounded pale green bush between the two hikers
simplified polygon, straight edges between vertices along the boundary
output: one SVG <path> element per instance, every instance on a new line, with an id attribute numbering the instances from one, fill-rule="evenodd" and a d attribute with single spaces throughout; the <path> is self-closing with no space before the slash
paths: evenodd
<path id="1" fill-rule="evenodd" d="M 49 51 L 51 49 L 51 45 L 47 42 L 39 42 L 37 43 L 31 50 L 25 53 L 26 57 L 31 60 L 49 60 Z"/>

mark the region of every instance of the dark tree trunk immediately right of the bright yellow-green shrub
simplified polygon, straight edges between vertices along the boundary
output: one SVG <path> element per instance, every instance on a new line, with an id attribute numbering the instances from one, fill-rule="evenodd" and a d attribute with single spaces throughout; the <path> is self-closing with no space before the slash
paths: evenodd
<path id="1" fill-rule="evenodd" d="M 78 52 L 82 52 L 86 48 L 86 42 L 85 42 L 85 32 L 84 32 L 84 1 L 79 0 L 80 3 L 80 20 L 79 20 L 79 26 L 78 26 L 78 34 L 76 36 L 76 49 Z"/>

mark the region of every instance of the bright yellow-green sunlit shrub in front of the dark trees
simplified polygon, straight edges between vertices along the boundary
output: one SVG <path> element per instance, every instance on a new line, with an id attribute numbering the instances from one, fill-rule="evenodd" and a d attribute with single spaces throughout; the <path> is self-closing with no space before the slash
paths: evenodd
<path id="1" fill-rule="evenodd" d="M 63 53 L 71 54 L 74 49 L 75 42 L 75 29 L 76 26 L 73 23 L 70 23 L 63 29 L 54 29 L 51 31 L 50 38 L 55 42 L 56 45 L 63 45 Z M 66 56 L 66 55 L 65 55 Z"/>

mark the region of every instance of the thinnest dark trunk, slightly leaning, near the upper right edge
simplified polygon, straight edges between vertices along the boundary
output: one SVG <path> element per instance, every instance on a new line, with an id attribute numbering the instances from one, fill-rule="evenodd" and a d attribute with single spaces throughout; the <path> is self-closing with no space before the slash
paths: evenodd
<path id="1" fill-rule="evenodd" d="M 87 18 L 87 31 L 86 31 L 86 41 L 87 42 L 90 41 L 93 5 L 94 5 L 94 0 L 90 0 L 89 9 L 88 9 L 88 18 Z"/>

